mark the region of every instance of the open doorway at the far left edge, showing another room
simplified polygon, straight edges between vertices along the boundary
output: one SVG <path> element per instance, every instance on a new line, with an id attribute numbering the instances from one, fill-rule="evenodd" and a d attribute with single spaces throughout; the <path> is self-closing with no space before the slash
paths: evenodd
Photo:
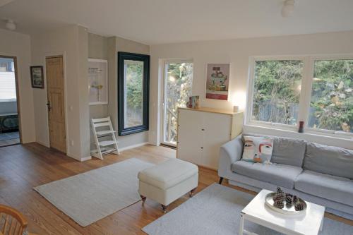
<path id="1" fill-rule="evenodd" d="M 21 143 L 17 61 L 0 55 L 0 147 Z"/>

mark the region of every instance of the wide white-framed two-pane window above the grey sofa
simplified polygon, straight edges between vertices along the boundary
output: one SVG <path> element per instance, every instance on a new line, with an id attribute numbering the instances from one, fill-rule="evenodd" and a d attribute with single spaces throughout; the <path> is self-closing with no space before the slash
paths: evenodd
<path id="1" fill-rule="evenodd" d="M 253 57 L 246 123 L 352 135 L 353 56 L 342 57 Z"/>

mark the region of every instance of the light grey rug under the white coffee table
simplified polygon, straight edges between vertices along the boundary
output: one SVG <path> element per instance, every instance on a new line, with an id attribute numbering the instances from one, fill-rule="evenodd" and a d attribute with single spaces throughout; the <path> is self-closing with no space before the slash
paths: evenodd
<path id="1" fill-rule="evenodd" d="M 240 212 L 252 198 L 248 193 L 214 183 L 142 230 L 149 235 L 239 234 Z M 280 234 L 248 221 L 245 228 L 261 235 Z M 353 227 L 325 218 L 319 234 L 352 235 Z"/>

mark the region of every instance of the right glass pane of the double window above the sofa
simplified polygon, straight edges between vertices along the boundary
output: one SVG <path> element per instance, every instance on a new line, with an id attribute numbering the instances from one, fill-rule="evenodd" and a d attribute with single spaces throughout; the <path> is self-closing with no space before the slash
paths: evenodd
<path id="1" fill-rule="evenodd" d="M 314 62 L 309 126 L 353 133 L 353 60 Z"/>

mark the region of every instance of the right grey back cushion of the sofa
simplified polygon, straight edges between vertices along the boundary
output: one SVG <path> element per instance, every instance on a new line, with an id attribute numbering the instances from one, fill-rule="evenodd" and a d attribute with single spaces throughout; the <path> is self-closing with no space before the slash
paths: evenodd
<path id="1" fill-rule="evenodd" d="M 353 150 L 307 143 L 304 169 L 353 179 Z"/>

